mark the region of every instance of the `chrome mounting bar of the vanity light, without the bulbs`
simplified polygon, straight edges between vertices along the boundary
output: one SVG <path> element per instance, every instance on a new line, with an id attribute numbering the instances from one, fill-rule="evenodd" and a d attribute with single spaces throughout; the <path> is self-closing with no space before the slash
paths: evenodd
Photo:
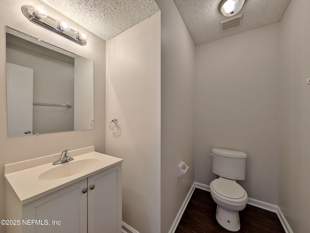
<path id="1" fill-rule="evenodd" d="M 58 35 L 61 35 L 62 37 L 69 39 L 70 41 L 73 41 L 81 46 L 86 45 L 86 40 L 79 40 L 78 39 L 78 31 L 74 29 L 70 29 L 68 31 L 60 30 L 59 24 L 60 22 L 51 16 L 47 15 L 46 18 L 38 18 L 35 16 L 33 7 L 24 5 L 21 7 L 21 11 L 23 14 L 34 24 L 37 24 L 47 30 L 50 30 Z"/>

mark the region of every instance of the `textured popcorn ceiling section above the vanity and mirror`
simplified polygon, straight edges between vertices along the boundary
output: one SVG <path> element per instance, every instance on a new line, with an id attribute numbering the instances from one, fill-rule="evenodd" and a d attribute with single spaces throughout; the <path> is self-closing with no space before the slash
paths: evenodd
<path id="1" fill-rule="evenodd" d="M 159 11 L 154 0 L 41 0 L 107 41 Z"/>

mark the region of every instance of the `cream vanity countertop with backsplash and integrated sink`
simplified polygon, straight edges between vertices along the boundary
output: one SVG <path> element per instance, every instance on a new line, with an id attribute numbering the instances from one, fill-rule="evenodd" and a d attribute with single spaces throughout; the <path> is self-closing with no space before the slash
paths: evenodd
<path id="1" fill-rule="evenodd" d="M 58 165 L 52 165 L 52 162 L 58 160 L 60 154 L 4 166 L 4 177 L 15 191 L 21 204 L 27 204 L 123 162 L 122 159 L 95 152 L 94 146 L 70 150 L 68 155 L 74 160 Z M 75 164 L 78 165 L 77 174 L 76 172 L 74 175 L 66 174 L 67 171 L 72 171 Z M 55 177 L 53 177 L 54 174 Z"/>

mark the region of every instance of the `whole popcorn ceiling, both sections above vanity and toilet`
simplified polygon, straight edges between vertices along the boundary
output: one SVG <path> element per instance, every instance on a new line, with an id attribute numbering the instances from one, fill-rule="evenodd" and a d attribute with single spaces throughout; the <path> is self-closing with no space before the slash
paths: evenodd
<path id="1" fill-rule="evenodd" d="M 41 0 L 103 40 L 154 15 L 160 9 L 155 0 Z M 255 29 L 281 20 L 290 0 L 246 0 L 237 14 L 241 27 L 220 32 L 221 0 L 174 0 L 196 45 Z"/>

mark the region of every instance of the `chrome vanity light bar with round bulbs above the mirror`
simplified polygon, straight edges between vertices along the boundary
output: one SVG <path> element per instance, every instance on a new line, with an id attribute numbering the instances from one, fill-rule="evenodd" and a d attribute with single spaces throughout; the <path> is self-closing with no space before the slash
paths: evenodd
<path id="1" fill-rule="evenodd" d="M 23 14 L 32 22 L 58 35 L 63 36 L 81 46 L 86 45 L 88 35 L 85 32 L 79 32 L 70 27 L 65 20 L 56 20 L 47 14 L 44 6 L 34 4 L 32 6 L 24 5 L 21 7 Z"/>

